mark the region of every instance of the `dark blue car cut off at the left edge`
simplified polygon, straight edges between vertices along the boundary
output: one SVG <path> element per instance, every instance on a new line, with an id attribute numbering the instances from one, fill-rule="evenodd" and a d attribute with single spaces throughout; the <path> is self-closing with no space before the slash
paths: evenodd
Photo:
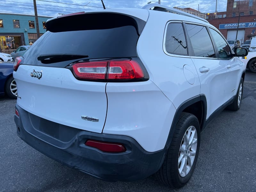
<path id="1" fill-rule="evenodd" d="M 13 63 L 0 62 L 0 95 L 17 98 L 17 85 L 12 76 Z"/>

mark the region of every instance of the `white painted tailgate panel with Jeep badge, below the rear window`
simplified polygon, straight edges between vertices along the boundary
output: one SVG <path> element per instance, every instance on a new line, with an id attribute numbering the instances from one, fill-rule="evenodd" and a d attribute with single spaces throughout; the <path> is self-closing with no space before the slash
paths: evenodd
<path id="1" fill-rule="evenodd" d="M 41 78 L 32 77 L 33 71 L 41 72 Z M 67 68 L 31 65 L 20 65 L 13 76 L 21 108 L 59 124 L 102 132 L 107 113 L 106 83 L 79 81 Z M 82 116 L 99 122 L 86 121 Z"/>

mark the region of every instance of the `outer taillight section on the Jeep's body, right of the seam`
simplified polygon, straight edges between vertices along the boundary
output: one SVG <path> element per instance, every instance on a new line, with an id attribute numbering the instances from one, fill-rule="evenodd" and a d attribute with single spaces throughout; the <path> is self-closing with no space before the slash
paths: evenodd
<path id="1" fill-rule="evenodd" d="M 134 60 L 109 61 L 107 79 L 140 79 L 143 77 L 143 70 Z"/>

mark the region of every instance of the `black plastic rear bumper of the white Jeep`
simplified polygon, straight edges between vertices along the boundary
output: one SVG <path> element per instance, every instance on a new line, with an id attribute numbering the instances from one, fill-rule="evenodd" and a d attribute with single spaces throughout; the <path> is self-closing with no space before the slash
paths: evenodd
<path id="1" fill-rule="evenodd" d="M 16 109 L 20 116 L 15 115 L 14 121 L 22 140 L 46 156 L 99 179 L 144 179 L 155 173 L 164 161 L 166 150 L 147 152 L 131 137 L 88 132 L 32 115 L 17 104 Z M 88 139 L 122 143 L 127 150 L 102 152 L 85 146 Z"/>

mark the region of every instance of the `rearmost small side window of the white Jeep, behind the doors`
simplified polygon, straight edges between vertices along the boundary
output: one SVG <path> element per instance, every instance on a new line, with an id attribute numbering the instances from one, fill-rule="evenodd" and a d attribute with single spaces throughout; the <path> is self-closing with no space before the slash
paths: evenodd
<path id="1" fill-rule="evenodd" d="M 170 23 L 166 30 L 165 50 L 168 53 L 187 55 L 187 43 L 181 23 Z"/>

